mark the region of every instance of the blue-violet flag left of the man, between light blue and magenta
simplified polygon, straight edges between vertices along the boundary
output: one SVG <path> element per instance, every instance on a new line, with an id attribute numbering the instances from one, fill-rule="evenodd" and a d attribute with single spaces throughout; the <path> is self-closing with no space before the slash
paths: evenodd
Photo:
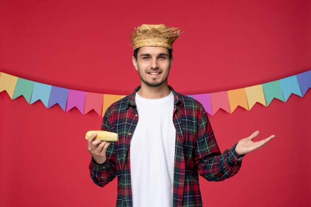
<path id="1" fill-rule="evenodd" d="M 58 104 L 63 109 L 63 111 L 65 111 L 68 98 L 68 91 L 69 90 L 67 88 L 52 86 L 48 108 L 52 107 L 55 104 Z"/>

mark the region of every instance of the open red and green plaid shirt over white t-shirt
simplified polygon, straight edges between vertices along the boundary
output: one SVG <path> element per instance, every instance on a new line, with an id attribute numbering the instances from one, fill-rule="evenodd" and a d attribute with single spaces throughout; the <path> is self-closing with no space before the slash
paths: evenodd
<path id="1" fill-rule="evenodd" d="M 91 179 L 100 187 L 118 178 L 116 207 L 133 206 L 130 142 L 139 119 L 135 94 L 140 87 L 106 110 L 101 130 L 117 133 L 119 140 L 110 143 L 103 164 L 93 158 L 89 164 Z M 223 181 L 237 173 L 244 155 L 236 153 L 236 143 L 222 154 L 202 104 L 168 87 L 174 95 L 172 119 L 176 129 L 173 207 L 202 207 L 199 174 L 208 181 Z"/>

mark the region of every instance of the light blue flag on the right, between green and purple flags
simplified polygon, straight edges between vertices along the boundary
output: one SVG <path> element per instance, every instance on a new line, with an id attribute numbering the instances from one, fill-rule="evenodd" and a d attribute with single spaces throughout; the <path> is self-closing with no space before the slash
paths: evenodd
<path id="1" fill-rule="evenodd" d="M 280 85 L 283 91 L 285 101 L 288 100 L 292 93 L 303 96 L 296 75 L 280 79 Z"/>

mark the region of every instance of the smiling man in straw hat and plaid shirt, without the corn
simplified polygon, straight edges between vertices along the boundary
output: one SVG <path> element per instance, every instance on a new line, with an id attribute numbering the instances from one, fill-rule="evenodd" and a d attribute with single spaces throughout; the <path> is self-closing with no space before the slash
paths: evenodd
<path id="1" fill-rule="evenodd" d="M 104 187 L 117 177 L 117 207 L 202 207 L 199 174 L 208 181 L 230 178 L 246 153 L 274 138 L 253 142 L 256 131 L 220 152 L 202 104 L 167 84 L 179 30 L 163 24 L 135 29 L 132 60 L 141 86 L 113 103 L 102 121 L 101 130 L 119 140 L 88 139 L 91 178 Z"/>

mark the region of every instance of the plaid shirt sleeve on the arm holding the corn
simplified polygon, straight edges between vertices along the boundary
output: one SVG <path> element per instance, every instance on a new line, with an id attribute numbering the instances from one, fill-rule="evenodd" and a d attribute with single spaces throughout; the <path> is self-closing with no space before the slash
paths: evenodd
<path id="1" fill-rule="evenodd" d="M 102 131 L 113 132 L 110 121 L 110 107 L 107 109 L 101 125 Z M 106 161 L 103 164 L 95 162 L 91 157 L 88 169 L 90 171 L 90 177 L 93 182 L 100 187 L 104 187 L 111 182 L 116 176 L 116 155 L 115 155 L 115 141 L 111 141 L 106 150 Z"/>

